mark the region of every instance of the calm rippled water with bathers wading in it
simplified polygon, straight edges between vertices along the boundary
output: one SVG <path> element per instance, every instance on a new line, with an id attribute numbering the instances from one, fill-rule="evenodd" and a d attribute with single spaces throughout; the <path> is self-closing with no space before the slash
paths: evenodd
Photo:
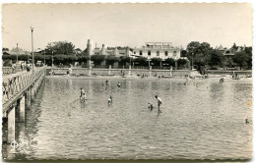
<path id="1" fill-rule="evenodd" d="M 252 113 L 251 81 L 109 81 L 106 88 L 104 80 L 47 77 L 18 128 L 19 140 L 28 144 L 7 158 L 252 157 L 252 125 L 244 124 Z M 89 99 L 85 106 L 78 100 L 80 87 Z M 155 106 L 152 112 L 148 102 Z"/>

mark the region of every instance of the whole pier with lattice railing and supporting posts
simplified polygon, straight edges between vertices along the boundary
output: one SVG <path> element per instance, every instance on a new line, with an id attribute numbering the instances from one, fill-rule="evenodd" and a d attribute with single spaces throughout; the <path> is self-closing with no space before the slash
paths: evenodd
<path id="1" fill-rule="evenodd" d="M 25 122 L 26 109 L 31 108 L 32 100 L 39 89 L 46 67 L 33 71 L 18 71 L 2 76 L 2 119 L 8 123 L 7 143 L 15 140 L 15 124 Z"/>

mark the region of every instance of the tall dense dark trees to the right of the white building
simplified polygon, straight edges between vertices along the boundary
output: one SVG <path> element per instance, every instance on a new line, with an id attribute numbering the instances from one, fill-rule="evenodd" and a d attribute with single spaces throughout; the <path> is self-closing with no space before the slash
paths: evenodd
<path id="1" fill-rule="evenodd" d="M 225 55 L 224 55 L 224 52 Z M 228 55 L 229 54 L 232 55 Z M 234 43 L 229 49 L 214 49 L 208 42 L 192 41 L 181 54 L 193 62 L 194 68 L 228 68 L 252 69 L 252 47 L 239 47 Z M 191 62 L 191 66 L 192 66 Z"/>

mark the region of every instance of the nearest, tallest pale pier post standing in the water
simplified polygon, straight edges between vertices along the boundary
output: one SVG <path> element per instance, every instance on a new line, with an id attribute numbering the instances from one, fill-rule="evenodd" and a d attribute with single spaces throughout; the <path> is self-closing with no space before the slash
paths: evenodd
<path id="1" fill-rule="evenodd" d="M 8 138 L 7 143 L 12 143 L 15 140 L 15 106 L 8 114 Z"/>

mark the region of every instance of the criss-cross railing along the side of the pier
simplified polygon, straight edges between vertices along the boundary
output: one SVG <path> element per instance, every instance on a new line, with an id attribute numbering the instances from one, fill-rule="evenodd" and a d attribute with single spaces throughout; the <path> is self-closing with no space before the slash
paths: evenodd
<path id="1" fill-rule="evenodd" d="M 33 81 L 38 79 L 44 73 L 45 67 L 40 67 L 32 71 L 24 71 L 22 73 L 12 74 L 3 77 L 2 83 L 2 102 L 5 105 L 14 96 L 21 93 L 28 86 L 32 84 Z"/>

